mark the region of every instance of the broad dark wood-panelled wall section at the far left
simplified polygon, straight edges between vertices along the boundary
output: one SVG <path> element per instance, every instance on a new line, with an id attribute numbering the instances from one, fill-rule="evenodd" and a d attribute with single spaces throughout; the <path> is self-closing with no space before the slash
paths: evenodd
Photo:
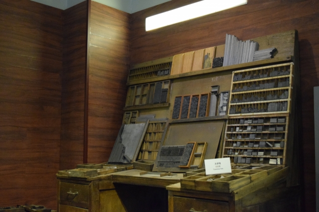
<path id="1" fill-rule="evenodd" d="M 56 208 L 61 11 L 30 0 L 0 1 L 0 207 Z"/>

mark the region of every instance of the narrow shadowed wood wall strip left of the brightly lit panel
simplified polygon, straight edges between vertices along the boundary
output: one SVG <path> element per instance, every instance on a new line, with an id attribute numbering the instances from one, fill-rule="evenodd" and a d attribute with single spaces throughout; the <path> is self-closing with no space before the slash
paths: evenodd
<path id="1" fill-rule="evenodd" d="M 87 2 L 63 11 L 60 170 L 83 163 Z"/>

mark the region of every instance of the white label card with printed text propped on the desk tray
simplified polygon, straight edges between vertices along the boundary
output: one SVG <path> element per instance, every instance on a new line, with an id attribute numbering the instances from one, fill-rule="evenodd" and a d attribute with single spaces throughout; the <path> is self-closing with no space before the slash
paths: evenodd
<path id="1" fill-rule="evenodd" d="M 206 175 L 231 173 L 230 158 L 216 158 L 205 160 Z"/>

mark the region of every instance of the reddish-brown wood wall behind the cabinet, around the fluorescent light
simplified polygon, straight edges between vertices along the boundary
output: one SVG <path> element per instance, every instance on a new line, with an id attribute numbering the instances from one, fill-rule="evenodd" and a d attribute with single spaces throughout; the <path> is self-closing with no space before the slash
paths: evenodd
<path id="1" fill-rule="evenodd" d="M 171 0 L 131 16 L 131 64 L 225 43 L 226 33 L 241 40 L 296 29 L 299 32 L 302 93 L 301 167 L 304 211 L 315 211 L 313 87 L 319 86 L 319 1 L 249 0 L 247 5 L 145 31 L 145 18 L 196 0 Z"/>

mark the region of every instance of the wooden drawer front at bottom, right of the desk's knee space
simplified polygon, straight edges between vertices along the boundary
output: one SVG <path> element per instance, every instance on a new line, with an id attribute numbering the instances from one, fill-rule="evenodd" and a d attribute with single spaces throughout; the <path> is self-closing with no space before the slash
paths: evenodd
<path id="1" fill-rule="evenodd" d="M 228 202 L 173 197 L 173 212 L 228 212 Z"/>

